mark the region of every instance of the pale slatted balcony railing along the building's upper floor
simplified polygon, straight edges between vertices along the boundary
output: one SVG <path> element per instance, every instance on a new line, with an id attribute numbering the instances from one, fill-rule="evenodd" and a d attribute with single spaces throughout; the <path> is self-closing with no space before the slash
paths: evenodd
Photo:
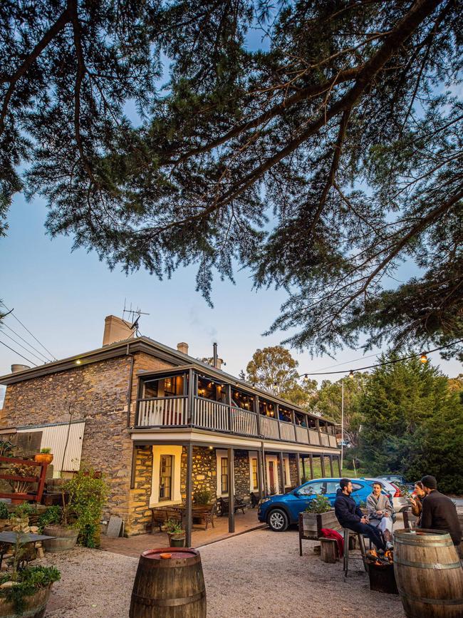
<path id="1" fill-rule="evenodd" d="M 188 414 L 187 397 L 160 397 L 138 400 L 137 427 L 194 426 L 236 433 L 241 436 L 297 442 L 313 446 L 336 448 L 336 438 L 313 429 L 279 421 L 272 416 L 257 415 L 254 411 L 227 406 L 202 397 L 193 398 Z M 259 433 L 260 428 L 260 433 Z"/>

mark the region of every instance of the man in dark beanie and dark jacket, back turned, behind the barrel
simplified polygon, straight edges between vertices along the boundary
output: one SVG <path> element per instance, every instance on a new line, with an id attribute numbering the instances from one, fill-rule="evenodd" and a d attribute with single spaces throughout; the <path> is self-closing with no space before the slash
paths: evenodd
<path id="1" fill-rule="evenodd" d="M 459 524 L 457 508 L 450 498 L 437 491 L 437 480 L 434 476 L 423 476 L 421 482 L 427 495 L 423 498 L 420 528 L 447 530 L 458 550 L 462 542 L 462 527 Z"/>

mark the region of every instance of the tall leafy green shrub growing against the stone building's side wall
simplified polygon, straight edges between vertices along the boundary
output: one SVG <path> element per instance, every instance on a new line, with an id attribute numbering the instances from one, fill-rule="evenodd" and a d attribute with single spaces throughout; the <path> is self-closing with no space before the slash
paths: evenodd
<path id="1" fill-rule="evenodd" d="M 76 513 L 78 541 L 85 547 L 98 547 L 100 520 L 108 495 L 108 485 L 103 477 L 97 478 L 93 468 L 81 468 L 65 485 L 69 493 L 69 507 Z"/>

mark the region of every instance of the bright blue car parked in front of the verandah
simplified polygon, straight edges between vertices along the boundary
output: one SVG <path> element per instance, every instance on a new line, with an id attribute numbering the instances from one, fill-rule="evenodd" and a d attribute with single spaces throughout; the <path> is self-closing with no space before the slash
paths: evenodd
<path id="1" fill-rule="evenodd" d="M 269 524 L 271 530 L 283 532 L 288 525 L 298 522 L 298 515 L 318 494 L 326 495 L 331 506 L 334 505 L 340 478 L 315 478 L 299 485 L 289 493 L 262 498 L 257 517 L 260 522 Z M 352 480 L 352 498 L 357 504 L 366 502 L 373 490 L 373 483 L 363 478 Z"/>

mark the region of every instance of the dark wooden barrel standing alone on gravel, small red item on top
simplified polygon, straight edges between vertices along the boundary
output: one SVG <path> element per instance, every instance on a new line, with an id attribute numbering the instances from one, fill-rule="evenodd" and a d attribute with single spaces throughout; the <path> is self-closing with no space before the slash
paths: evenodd
<path id="1" fill-rule="evenodd" d="M 206 618 L 201 556 L 189 547 L 140 555 L 130 618 Z"/>

